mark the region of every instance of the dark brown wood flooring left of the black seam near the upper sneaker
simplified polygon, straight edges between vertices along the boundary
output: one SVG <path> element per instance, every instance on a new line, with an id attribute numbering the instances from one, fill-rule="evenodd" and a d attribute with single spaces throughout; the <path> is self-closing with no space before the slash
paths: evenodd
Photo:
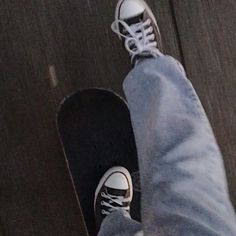
<path id="1" fill-rule="evenodd" d="M 169 2 L 150 1 L 180 58 Z M 86 235 L 55 126 L 63 97 L 122 94 L 130 69 L 113 35 L 116 1 L 0 1 L 0 233 Z"/>

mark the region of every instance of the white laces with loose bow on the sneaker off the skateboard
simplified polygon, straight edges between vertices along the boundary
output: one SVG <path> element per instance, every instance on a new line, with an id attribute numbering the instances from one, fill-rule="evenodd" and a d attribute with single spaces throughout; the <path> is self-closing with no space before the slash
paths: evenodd
<path id="1" fill-rule="evenodd" d="M 119 24 L 121 24 L 127 35 L 120 32 Z M 125 38 L 125 48 L 131 56 L 131 62 L 134 57 L 144 52 L 157 57 L 160 54 L 157 48 L 157 42 L 154 41 L 155 35 L 153 33 L 153 27 L 151 26 L 151 20 L 147 19 L 144 22 L 139 22 L 129 26 L 125 21 L 116 20 L 112 23 L 111 29 L 117 35 Z"/>

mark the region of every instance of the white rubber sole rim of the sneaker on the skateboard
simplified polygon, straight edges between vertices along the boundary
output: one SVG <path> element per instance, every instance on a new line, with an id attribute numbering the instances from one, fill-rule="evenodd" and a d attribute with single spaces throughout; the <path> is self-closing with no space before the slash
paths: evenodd
<path id="1" fill-rule="evenodd" d="M 95 211 L 95 205 L 96 205 L 97 196 L 98 196 L 98 193 L 99 193 L 100 189 L 104 185 L 104 183 L 107 180 L 108 176 L 110 176 L 111 174 L 113 174 L 115 172 L 120 172 L 120 173 L 124 174 L 125 177 L 128 179 L 129 186 L 130 186 L 130 201 L 132 201 L 132 199 L 133 199 L 133 184 L 132 184 L 131 175 L 130 175 L 129 171 L 126 168 L 124 168 L 122 166 L 115 166 L 115 167 L 112 167 L 111 169 L 109 169 L 103 175 L 103 177 L 101 178 L 101 180 L 100 180 L 100 182 L 99 182 L 99 184 L 98 184 L 98 186 L 96 188 L 95 197 L 94 197 L 94 211 Z"/>

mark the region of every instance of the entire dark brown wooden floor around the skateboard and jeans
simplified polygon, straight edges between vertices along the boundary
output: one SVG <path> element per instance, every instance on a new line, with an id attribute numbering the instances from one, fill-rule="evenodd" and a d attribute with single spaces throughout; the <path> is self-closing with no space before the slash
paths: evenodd
<path id="1" fill-rule="evenodd" d="M 209 116 L 236 206 L 236 1 L 148 2 Z M 55 114 L 78 89 L 123 94 L 130 63 L 110 30 L 115 5 L 0 1 L 1 235 L 86 235 Z"/>

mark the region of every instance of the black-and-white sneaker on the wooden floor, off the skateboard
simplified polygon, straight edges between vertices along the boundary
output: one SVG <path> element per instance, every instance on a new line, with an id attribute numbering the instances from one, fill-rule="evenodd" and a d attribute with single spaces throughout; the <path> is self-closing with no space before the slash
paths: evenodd
<path id="1" fill-rule="evenodd" d="M 140 57 L 156 57 L 162 51 L 156 18 L 143 0 L 120 0 L 111 28 L 122 39 L 133 64 Z"/>

